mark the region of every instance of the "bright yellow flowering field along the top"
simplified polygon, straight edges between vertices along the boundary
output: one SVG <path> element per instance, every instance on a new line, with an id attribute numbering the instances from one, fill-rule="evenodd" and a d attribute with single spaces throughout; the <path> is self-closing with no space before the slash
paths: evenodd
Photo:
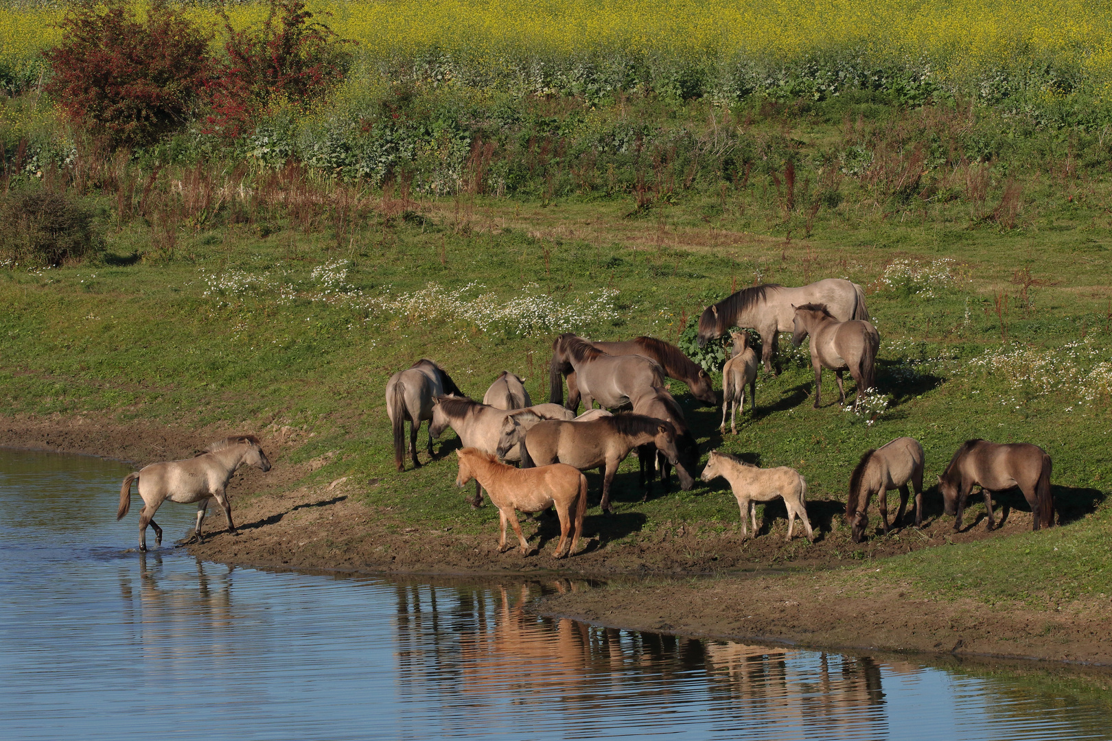
<path id="1" fill-rule="evenodd" d="M 141 2 L 139 3 L 141 4 Z M 929 66 L 941 80 L 1051 66 L 1112 83 L 1109 0 L 311 0 L 371 62 L 436 51 L 469 66 L 620 52 L 652 59 L 786 62 L 852 53 Z M 266 4 L 229 6 L 237 26 Z M 57 4 L 0 8 L 0 67 L 37 68 L 58 38 Z M 189 9 L 212 28 L 211 6 Z"/>

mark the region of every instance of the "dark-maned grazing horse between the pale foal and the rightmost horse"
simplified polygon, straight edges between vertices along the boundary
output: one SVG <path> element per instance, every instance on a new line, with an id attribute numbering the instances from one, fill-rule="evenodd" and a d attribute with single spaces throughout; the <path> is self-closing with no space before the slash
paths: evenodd
<path id="1" fill-rule="evenodd" d="M 866 450 L 850 477 L 850 498 L 845 518 L 851 525 L 853 542 L 865 539 L 868 527 L 868 500 L 875 493 L 881 509 L 884 534 L 888 534 L 888 492 L 900 490 L 900 511 L 892 520 L 894 528 L 907 507 L 907 482 L 915 488 L 915 527 L 923 524 L 923 445 L 914 438 L 896 438 L 880 448 Z"/>

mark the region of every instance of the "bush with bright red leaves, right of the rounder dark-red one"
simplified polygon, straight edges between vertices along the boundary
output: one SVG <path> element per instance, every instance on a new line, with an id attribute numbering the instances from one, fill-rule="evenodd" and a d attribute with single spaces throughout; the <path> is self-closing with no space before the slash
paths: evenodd
<path id="1" fill-rule="evenodd" d="M 249 130 L 272 103 L 311 101 L 344 76 L 342 44 L 301 0 L 270 0 L 261 26 L 236 30 L 225 16 L 227 61 L 210 88 L 211 131 Z"/>

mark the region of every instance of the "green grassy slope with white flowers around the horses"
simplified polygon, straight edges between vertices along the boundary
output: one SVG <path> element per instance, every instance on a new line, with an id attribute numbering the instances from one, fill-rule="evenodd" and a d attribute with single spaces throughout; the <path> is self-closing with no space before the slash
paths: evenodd
<path id="1" fill-rule="evenodd" d="M 861 110 L 848 106 L 845 116 Z M 797 161 L 813 163 L 818 182 L 818 156 L 845 136 L 842 119 L 775 109 L 751 134 L 762 141 L 794 127 Z M 823 408 L 811 409 L 804 348 L 778 378 L 758 379 L 757 413 L 744 417 L 736 438 L 718 434 L 721 410 L 673 383 L 704 453 L 718 447 L 797 468 L 815 501 L 843 500 L 860 454 L 897 435 L 923 443 L 930 482 L 967 438 L 1040 444 L 1054 459 L 1066 527 L 922 551 L 892 561 L 885 577 L 989 600 L 1108 594 L 1102 363 L 1112 360 L 1112 289 L 1103 253 L 1112 190 L 1099 164 L 1035 164 L 1014 170 L 1025 193 L 1014 221 L 990 218 L 995 199 L 1006 200 L 1003 179 L 991 198 L 902 201 L 846 176 L 843 197 L 810 214 L 803 196 L 787 208 L 775 170 L 721 190 L 662 191 L 644 208 L 636 192 L 413 200 L 394 187 L 347 191 L 309 179 L 306 188 L 331 193 L 318 198 L 326 206 L 341 192 L 358 200 L 350 223 L 325 210 L 305 217 L 291 201 L 279 208 L 278 197 L 269 206 L 230 199 L 205 219 L 178 212 L 171 239 L 157 213 L 125 217 L 117 196 L 89 191 L 107 232 L 102 260 L 0 270 L 0 413 L 289 428 L 302 443 L 295 461 L 336 453 L 306 482 L 375 480 L 366 500 L 389 508 L 399 527 L 478 531 L 496 514 L 468 508 L 450 460 L 394 471 L 383 398 L 393 372 L 431 357 L 481 398 L 498 371 L 512 370 L 540 402 L 552 336 L 563 329 L 545 326 L 553 307 L 568 329 L 593 338 L 675 341 L 689 318 L 736 288 L 846 277 L 867 287 L 886 408 L 875 419 L 843 411 L 827 378 Z M 967 173 L 967 162 L 935 170 L 935 192 L 962 167 Z M 185 198 L 186 178 L 163 177 L 178 183 L 167 192 Z M 430 283 L 440 293 L 421 298 Z M 484 288 L 461 290 L 471 283 Z M 592 301 L 602 303 L 585 310 Z M 535 321 L 507 318 L 506 307 Z M 713 533 L 737 520 L 721 481 L 639 499 L 636 460 L 626 461 L 618 514 L 592 519 L 604 541 L 635 542 L 681 523 Z M 927 513 L 939 514 L 936 491 L 926 499 Z M 1004 502 L 1024 509 L 1021 500 Z M 822 527 L 844 537 L 833 510 L 825 517 Z M 864 552 L 846 549 L 851 558 Z"/>

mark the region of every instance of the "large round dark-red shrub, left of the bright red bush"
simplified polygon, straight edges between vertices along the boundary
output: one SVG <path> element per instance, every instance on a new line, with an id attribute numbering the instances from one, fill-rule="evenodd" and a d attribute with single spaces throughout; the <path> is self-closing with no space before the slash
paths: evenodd
<path id="1" fill-rule="evenodd" d="M 110 144 L 146 144 L 181 127 L 210 79 L 208 38 L 156 1 L 140 20 L 121 0 L 73 6 L 62 40 L 43 52 L 47 91 Z"/>

